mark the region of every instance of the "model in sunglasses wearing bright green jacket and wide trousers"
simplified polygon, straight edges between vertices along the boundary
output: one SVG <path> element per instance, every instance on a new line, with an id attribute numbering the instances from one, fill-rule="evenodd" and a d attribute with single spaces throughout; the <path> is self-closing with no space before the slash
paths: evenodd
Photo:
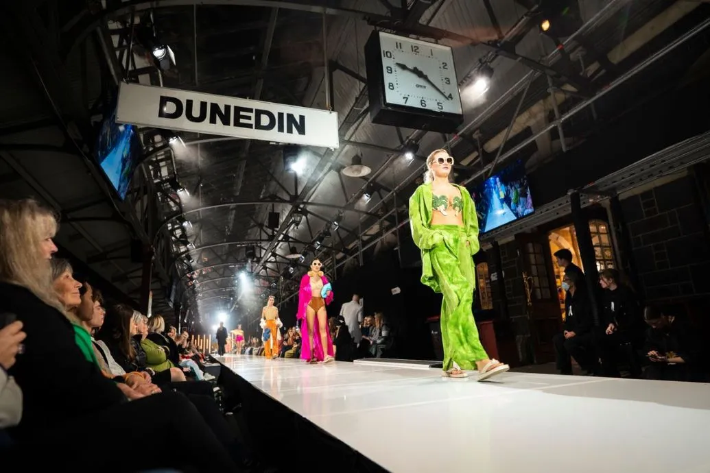
<path id="1" fill-rule="evenodd" d="M 414 243 L 422 250 L 422 284 L 444 294 L 444 376 L 464 378 L 464 369 L 478 369 L 483 381 L 510 367 L 488 359 L 471 312 L 479 222 L 469 191 L 449 182 L 453 165 L 446 150 L 427 157 L 425 182 L 409 199 L 409 219 Z"/>

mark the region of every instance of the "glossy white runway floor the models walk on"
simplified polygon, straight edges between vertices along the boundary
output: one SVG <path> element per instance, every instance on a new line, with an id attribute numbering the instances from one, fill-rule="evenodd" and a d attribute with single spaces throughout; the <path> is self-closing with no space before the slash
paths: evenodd
<path id="1" fill-rule="evenodd" d="M 710 384 L 220 360 L 391 472 L 710 472 Z"/>

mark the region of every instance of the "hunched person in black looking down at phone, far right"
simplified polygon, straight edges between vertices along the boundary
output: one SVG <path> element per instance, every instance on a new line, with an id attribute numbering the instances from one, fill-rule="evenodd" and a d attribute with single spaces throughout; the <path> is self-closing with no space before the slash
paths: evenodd
<path id="1" fill-rule="evenodd" d="M 643 352 L 648 367 L 645 379 L 698 381 L 706 368 L 702 345 L 688 321 L 667 316 L 657 307 L 647 306 L 643 319 L 648 324 Z"/>

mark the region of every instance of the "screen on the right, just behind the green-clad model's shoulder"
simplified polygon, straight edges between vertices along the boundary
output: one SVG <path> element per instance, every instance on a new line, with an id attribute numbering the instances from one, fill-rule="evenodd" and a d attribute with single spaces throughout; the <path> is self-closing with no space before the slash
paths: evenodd
<path id="1" fill-rule="evenodd" d="M 493 174 L 475 187 L 471 194 L 476 203 L 481 233 L 495 230 L 535 211 L 525 165 L 521 161 Z"/>

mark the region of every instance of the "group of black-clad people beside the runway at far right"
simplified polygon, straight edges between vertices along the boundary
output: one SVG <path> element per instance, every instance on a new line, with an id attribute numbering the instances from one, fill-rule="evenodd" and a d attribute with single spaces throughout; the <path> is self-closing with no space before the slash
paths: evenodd
<path id="1" fill-rule="evenodd" d="M 618 271 L 604 269 L 599 276 L 603 293 L 597 321 L 584 273 L 570 262 L 568 250 L 555 256 L 565 267 L 562 289 L 567 292 L 564 330 L 552 340 L 561 374 L 572 374 L 574 357 L 589 375 L 618 377 L 621 364 L 627 365 L 631 377 L 640 377 L 645 365 L 646 379 L 695 381 L 706 375 L 697 333 L 687 320 L 654 306 L 642 311 Z"/>

